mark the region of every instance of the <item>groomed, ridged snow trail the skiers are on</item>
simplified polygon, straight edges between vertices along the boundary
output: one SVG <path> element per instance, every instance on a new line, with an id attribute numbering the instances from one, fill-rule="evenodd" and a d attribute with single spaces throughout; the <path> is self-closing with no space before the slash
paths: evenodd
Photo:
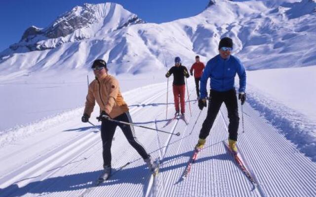
<path id="1" fill-rule="evenodd" d="M 143 160 L 118 129 L 112 144 L 112 165 L 117 168 L 127 162 L 131 164 L 115 173 L 110 180 L 93 187 L 103 163 L 100 132 L 79 123 L 80 116 L 77 115 L 72 121 L 51 128 L 50 134 L 47 133 L 46 138 L 42 138 L 43 142 L 47 141 L 47 147 L 43 147 L 45 143 L 39 142 L 42 150 L 37 147 L 37 143 L 33 148 L 16 144 L 20 149 L 15 148 L 11 152 L 13 155 L 7 152 L 0 156 L 0 160 L 5 160 L 10 165 L 10 160 L 18 154 L 33 153 L 31 159 L 15 162 L 14 169 L 5 167 L 7 171 L 3 171 L 0 176 L 0 197 L 79 197 L 91 187 L 91 191 L 84 196 L 316 196 L 316 164 L 300 153 L 295 145 L 247 103 L 243 107 L 245 132 L 242 133 L 240 118 L 238 147 L 260 187 L 252 186 L 225 148 L 223 142 L 228 137 L 229 121 L 224 104 L 189 176 L 182 179 L 207 110 L 203 109 L 197 120 L 200 110 L 194 100 L 194 81 L 190 78 L 188 82 L 192 100 L 192 116 L 188 102 L 186 104 L 189 125 L 176 119 L 164 127 L 167 123 L 166 83 L 139 88 L 124 95 L 131 105 L 130 112 L 135 124 L 181 133 L 180 136 L 158 133 L 162 146 L 159 150 L 156 131 L 135 127 L 137 139 L 146 150 L 153 158 L 161 158 L 158 181 L 155 184 Z M 170 101 L 168 119 L 174 113 L 171 86 Z M 96 115 L 95 113 L 92 117 Z M 97 124 L 95 120 L 92 122 Z M 64 134 L 65 131 L 68 131 L 67 135 Z M 55 141 L 53 147 L 49 146 L 51 141 Z"/>

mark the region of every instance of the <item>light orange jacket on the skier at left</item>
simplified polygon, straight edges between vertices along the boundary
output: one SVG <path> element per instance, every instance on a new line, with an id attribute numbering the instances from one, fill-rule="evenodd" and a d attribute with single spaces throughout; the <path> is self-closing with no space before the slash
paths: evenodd
<path id="1" fill-rule="evenodd" d="M 96 78 L 89 85 L 84 108 L 84 113 L 89 117 L 95 101 L 100 106 L 100 110 L 105 111 L 111 118 L 116 118 L 128 111 L 128 106 L 119 91 L 118 80 L 109 74 Z"/>

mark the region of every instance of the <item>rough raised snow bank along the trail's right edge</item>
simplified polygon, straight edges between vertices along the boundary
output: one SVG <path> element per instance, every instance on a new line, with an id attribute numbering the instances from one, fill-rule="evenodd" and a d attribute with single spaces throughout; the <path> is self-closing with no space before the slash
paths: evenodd
<path id="1" fill-rule="evenodd" d="M 251 88 L 248 88 L 247 92 L 247 102 L 250 106 L 259 111 L 288 140 L 296 144 L 298 150 L 316 162 L 316 123 Z"/>

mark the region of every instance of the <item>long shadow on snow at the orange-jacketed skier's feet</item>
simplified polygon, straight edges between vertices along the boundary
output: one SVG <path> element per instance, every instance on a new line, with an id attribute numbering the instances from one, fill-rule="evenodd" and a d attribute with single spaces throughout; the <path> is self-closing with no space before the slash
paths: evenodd
<path id="1" fill-rule="evenodd" d="M 47 178 L 41 181 L 31 182 L 23 187 L 18 184 L 12 184 L 7 188 L 0 189 L 0 196 L 2 197 L 20 197 L 26 194 L 50 194 L 57 192 L 69 192 L 80 189 L 88 189 L 95 187 L 95 181 L 101 174 L 102 170 L 83 172 L 78 174 L 71 174 L 65 176 L 57 176 Z M 145 184 L 148 182 L 151 173 L 146 165 L 139 165 L 132 168 L 122 169 L 111 177 L 109 181 L 100 184 L 100 187 L 120 185 L 124 183 L 129 184 Z M 144 187 L 143 190 L 145 190 Z"/>

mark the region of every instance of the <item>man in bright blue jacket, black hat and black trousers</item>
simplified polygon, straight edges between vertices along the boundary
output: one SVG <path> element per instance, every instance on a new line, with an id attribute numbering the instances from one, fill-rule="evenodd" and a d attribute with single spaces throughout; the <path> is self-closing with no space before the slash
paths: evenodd
<path id="1" fill-rule="evenodd" d="M 233 40 L 231 38 L 222 38 L 219 42 L 218 50 L 219 55 L 215 56 L 207 62 L 200 80 L 200 99 L 198 100 L 198 107 L 200 110 L 202 110 L 203 107 L 206 107 L 206 83 L 208 78 L 211 78 L 211 91 L 208 102 L 209 106 L 207 110 L 207 116 L 199 133 L 199 139 L 196 148 L 203 148 L 206 137 L 209 135 L 219 109 L 224 102 L 227 107 L 229 118 L 229 146 L 233 151 L 237 152 L 236 144 L 239 116 L 237 96 L 234 84 L 235 76 L 236 74 L 238 74 L 238 99 L 240 99 L 241 104 L 243 104 L 246 100 L 246 72 L 240 60 L 231 55 L 231 51 L 233 50 Z"/>

